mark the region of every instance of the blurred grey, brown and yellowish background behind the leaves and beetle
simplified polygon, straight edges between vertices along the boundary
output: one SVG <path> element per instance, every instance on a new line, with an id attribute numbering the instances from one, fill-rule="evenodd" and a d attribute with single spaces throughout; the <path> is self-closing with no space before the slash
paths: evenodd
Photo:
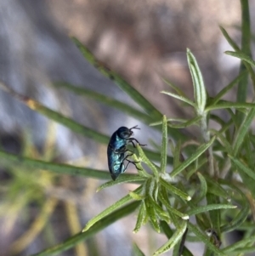
<path id="1" fill-rule="evenodd" d="M 250 9 L 254 28 L 255 2 L 250 2 Z M 153 138 L 160 144 L 160 135 L 137 120 L 51 85 L 71 82 L 135 105 L 83 59 L 70 36 L 125 77 L 167 117 L 191 117 L 193 113 L 185 112 L 178 101 L 160 94 L 167 89 L 161 77 L 193 99 L 186 61 L 186 48 L 190 48 L 211 96 L 228 84 L 237 74 L 239 62 L 224 55 L 231 48 L 219 25 L 235 42 L 241 41 L 240 1 L 0 0 L 0 80 L 103 134 L 110 136 L 120 126 L 138 124 L 142 130 L 135 134 L 141 143 L 148 144 Z M 0 105 L 4 151 L 107 169 L 105 145 L 48 121 L 2 90 Z M 128 172 L 135 171 L 132 169 Z M 95 194 L 100 183 L 94 179 L 6 169 L 1 163 L 0 184 L 1 256 L 29 255 L 64 241 L 134 187 L 120 185 Z M 150 227 L 133 235 L 134 225 L 134 216 L 125 218 L 63 255 L 131 255 L 132 241 L 150 255 L 165 241 L 163 236 L 155 241 Z M 190 250 L 195 252 L 197 247 Z"/>

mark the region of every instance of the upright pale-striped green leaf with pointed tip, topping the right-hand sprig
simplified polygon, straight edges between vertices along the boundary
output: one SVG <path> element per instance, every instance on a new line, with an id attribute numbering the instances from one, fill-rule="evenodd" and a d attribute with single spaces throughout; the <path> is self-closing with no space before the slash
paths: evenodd
<path id="1" fill-rule="evenodd" d="M 204 85 L 200 68 L 195 60 L 195 56 L 190 52 L 189 48 L 187 49 L 187 58 L 190 67 L 190 74 L 193 81 L 194 98 L 197 107 L 196 111 L 199 115 L 202 115 L 207 104 L 207 91 Z"/>

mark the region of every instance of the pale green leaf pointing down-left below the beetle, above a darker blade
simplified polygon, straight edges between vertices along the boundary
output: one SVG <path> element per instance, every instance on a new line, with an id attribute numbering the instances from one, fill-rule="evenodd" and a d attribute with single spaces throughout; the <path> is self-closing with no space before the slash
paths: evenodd
<path id="1" fill-rule="evenodd" d="M 139 194 L 140 191 L 142 191 L 142 185 L 140 185 L 139 188 L 137 188 L 133 192 Z M 109 208 L 106 208 L 103 212 L 99 213 L 93 219 L 90 219 L 85 228 L 82 230 L 82 232 L 89 230 L 89 228 L 96 224 L 100 219 L 103 219 L 105 216 L 113 213 L 117 208 L 122 207 L 125 203 L 129 202 L 130 200 L 132 200 L 132 197 L 130 195 L 122 197 L 122 199 L 112 204 Z"/>

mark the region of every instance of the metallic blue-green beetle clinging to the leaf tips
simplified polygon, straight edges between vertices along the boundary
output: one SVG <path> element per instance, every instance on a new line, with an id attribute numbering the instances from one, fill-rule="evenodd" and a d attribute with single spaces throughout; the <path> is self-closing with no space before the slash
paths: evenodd
<path id="1" fill-rule="evenodd" d="M 133 129 L 139 128 L 137 125 L 133 128 L 122 126 L 111 135 L 111 139 L 107 147 L 107 158 L 108 168 L 111 174 L 111 179 L 113 180 L 116 180 L 120 174 L 123 174 L 127 170 L 127 167 L 130 163 L 133 163 L 137 168 L 137 162 L 133 162 L 127 159 L 128 156 L 133 155 L 133 151 L 127 150 L 127 143 L 132 143 L 133 147 L 135 147 L 133 141 L 139 144 L 137 139 L 131 138 L 133 135 Z M 127 152 L 129 152 L 129 154 Z M 127 161 L 126 166 L 124 165 L 125 160 Z"/>

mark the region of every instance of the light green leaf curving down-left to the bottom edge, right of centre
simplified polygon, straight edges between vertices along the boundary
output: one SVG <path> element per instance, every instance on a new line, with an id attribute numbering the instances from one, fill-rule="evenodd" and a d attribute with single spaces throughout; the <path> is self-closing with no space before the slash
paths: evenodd
<path id="1" fill-rule="evenodd" d="M 153 255 L 166 253 L 172 247 L 174 247 L 177 244 L 177 242 L 181 239 L 181 237 L 184 235 L 186 228 L 187 228 L 187 221 L 183 220 L 179 229 L 175 230 L 175 232 L 173 233 L 173 236 L 171 236 L 171 238 L 164 245 L 162 245 L 159 249 L 157 249 Z"/>

